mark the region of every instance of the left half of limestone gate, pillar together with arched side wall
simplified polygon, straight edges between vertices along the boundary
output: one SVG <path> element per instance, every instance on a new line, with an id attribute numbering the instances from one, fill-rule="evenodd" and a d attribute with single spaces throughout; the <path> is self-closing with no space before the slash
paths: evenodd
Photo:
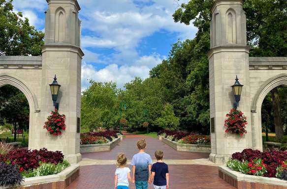
<path id="1" fill-rule="evenodd" d="M 0 57 L 0 87 L 12 85 L 27 97 L 30 106 L 29 149 L 62 151 L 71 163 L 81 160 L 81 27 L 77 0 L 47 0 L 45 44 L 41 57 Z M 57 75 L 62 85 L 59 112 L 66 115 L 60 136 L 43 129 L 54 110 L 49 84 Z"/>

